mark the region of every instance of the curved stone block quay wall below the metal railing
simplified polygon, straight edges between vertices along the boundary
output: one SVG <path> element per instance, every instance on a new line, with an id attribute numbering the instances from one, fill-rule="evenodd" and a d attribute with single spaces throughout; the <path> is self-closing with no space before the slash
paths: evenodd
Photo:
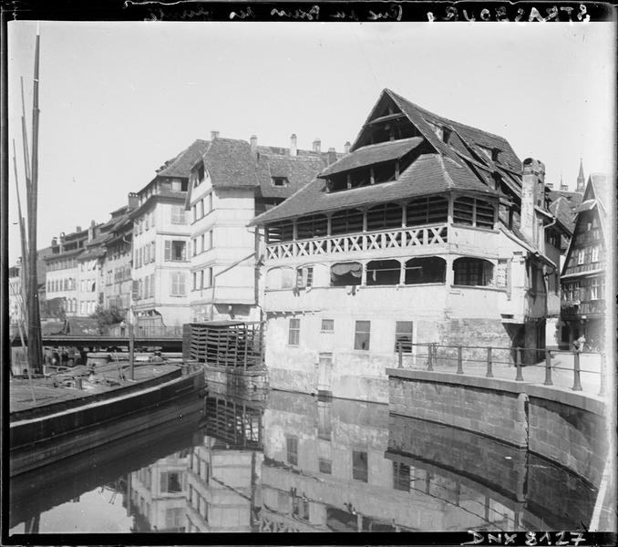
<path id="1" fill-rule="evenodd" d="M 609 448 L 601 398 L 498 378 L 386 372 L 392 413 L 527 448 L 599 486 Z"/>

